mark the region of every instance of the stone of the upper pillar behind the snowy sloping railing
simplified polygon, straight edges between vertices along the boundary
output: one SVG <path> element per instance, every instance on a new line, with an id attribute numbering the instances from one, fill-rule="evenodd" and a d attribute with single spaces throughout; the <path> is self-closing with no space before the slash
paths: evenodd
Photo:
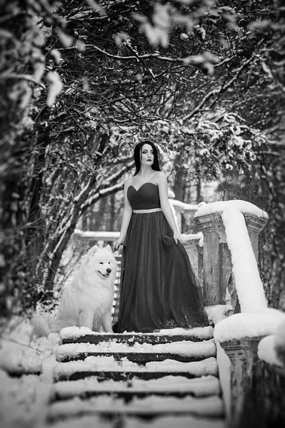
<path id="1" fill-rule="evenodd" d="M 259 257 L 259 233 L 266 225 L 266 218 L 244 214 L 249 238 L 256 260 Z M 204 235 L 203 294 L 204 305 L 224 305 L 226 287 L 232 274 L 231 253 L 226 243 L 226 233 L 221 213 L 211 213 L 195 218 Z"/>

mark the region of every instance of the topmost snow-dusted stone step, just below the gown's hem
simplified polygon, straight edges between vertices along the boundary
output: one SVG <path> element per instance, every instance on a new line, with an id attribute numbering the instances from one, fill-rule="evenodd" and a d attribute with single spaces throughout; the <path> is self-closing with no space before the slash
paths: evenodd
<path id="1" fill-rule="evenodd" d="M 184 328 L 174 328 L 169 330 L 159 330 L 154 333 L 98 333 L 86 327 L 66 327 L 61 330 L 60 338 L 63 344 L 67 343 L 99 343 L 99 342 L 127 342 L 131 343 L 171 343 L 181 342 L 181 340 L 191 340 L 199 342 L 209 340 L 213 337 L 213 327 L 196 327 L 189 330 Z"/>

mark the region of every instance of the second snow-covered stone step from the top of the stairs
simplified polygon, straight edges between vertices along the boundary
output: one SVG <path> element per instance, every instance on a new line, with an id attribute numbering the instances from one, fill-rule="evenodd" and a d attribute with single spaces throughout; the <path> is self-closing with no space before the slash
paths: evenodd
<path id="1" fill-rule="evenodd" d="M 151 361 L 176 360 L 181 362 L 199 361 L 207 357 L 216 356 L 214 339 L 203 342 L 173 342 L 168 344 L 134 344 L 114 342 L 94 343 L 67 343 L 60 345 L 56 350 L 56 360 L 69 362 L 85 360 L 86 357 L 107 357 L 112 355 L 115 360 L 127 358 L 131 362 L 145 364 Z"/>

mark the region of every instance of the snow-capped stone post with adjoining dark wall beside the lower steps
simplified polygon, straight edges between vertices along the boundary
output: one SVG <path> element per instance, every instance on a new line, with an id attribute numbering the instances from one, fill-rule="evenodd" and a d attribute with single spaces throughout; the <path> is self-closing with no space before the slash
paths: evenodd
<path id="1" fill-rule="evenodd" d="M 258 356 L 260 343 L 276 331 L 282 320 L 281 311 L 266 308 L 235 314 L 215 325 L 214 339 L 224 352 L 218 366 L 226 379 L 226 387 L 221 386 L 228 428 L 275 427 L 264 424 L 264 418 L 272 422 L 283 417 L 285 422 L 284 369 L 270 366 Z"/>

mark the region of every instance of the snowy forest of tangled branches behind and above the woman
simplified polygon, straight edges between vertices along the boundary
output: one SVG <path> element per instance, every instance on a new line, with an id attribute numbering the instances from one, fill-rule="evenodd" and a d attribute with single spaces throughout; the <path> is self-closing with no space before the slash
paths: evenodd
<path id="1" fill-rule="evenodd" d="M 285 310 L 281 0 L 0 10 L 2 325 L 49 302 L 79 218 L 114 205 L 135 143 L 149 138 L 176 199 L 195 188 L 199 202 L 201 184 L 219 180 L 220 200 L 269 213 L 259 267 L 269 305 Z"/>

